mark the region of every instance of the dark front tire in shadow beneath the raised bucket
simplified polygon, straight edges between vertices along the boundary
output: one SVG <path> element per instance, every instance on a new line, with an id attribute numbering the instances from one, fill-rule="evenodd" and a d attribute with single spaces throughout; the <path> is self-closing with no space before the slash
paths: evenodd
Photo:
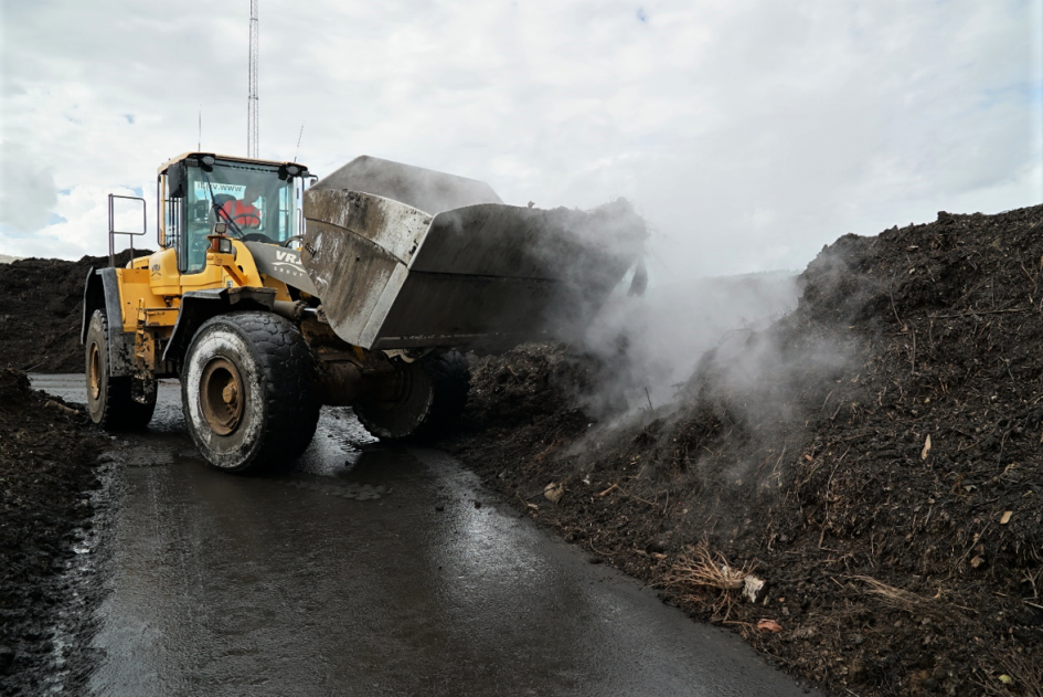
<path id="1" fill-rule="evenodd" d="M 467 405 L 471 373 L 459 351 L 396 360 L 393 378 L 368 386 L 354 406 L 359 421 L 382 441 L 426 441 L 450 432 Z"/>

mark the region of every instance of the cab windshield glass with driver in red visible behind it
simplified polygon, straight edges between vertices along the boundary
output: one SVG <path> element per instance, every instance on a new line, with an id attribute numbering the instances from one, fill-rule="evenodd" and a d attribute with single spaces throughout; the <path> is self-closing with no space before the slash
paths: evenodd
<path id="1" fill-rule="evenodd" d="M 297 234 L 296 179 L 279 179 L 274 165 L 219 159 L 211 171 L 189 166 L 185 187 L 185 273 L 206 264 L 206 235 L 219 220 L 247 242 L 279 244 Z"/>

